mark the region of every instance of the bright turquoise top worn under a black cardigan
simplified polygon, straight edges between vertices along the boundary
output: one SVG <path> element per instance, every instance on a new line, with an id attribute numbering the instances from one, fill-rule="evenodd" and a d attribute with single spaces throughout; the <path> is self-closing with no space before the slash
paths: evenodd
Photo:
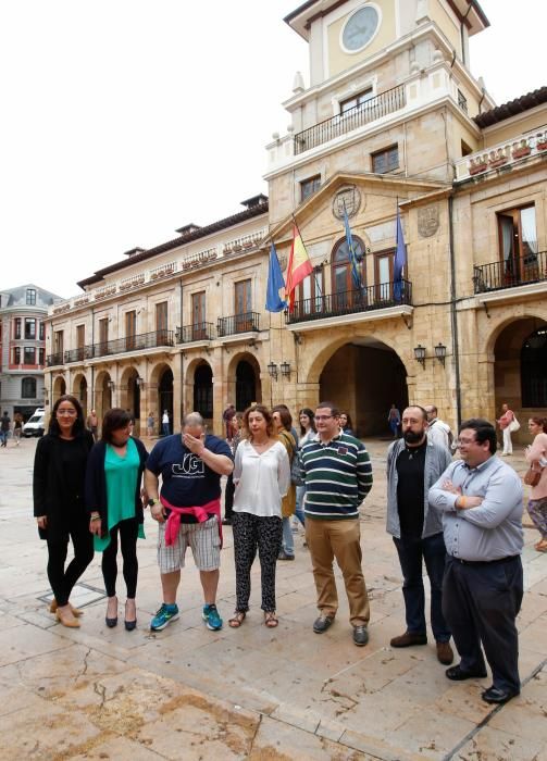
<path id="1" fill-rule="evenodd" d="M 94 536 L 95 549 L 102 552 L 110 545 L 110 532 L 121 521 L 135 519 L 135 490 L 139 470 L 137 445 L 129 438 L 125 457 L 120 457 L 114 447 L 107 445 L 104 458 L 104 475 L 107 477 L 107 514 L 108 533 L 105 536 Z M 140 523 L 138 536 L 145 538 L 145 527 Z"/>

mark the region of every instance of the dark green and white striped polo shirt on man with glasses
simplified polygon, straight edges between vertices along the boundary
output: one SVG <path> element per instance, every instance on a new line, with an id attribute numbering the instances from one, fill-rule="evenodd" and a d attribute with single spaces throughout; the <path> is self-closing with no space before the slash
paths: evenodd
<path id="1" fill-rule="evenodd" d="M 359 517 L 359 506 L 372 488 L 364 444 L 343 432 L 328 444 L 318 435 L 299 454 L 306 476 L 304 514 L 324 521 Z"/>

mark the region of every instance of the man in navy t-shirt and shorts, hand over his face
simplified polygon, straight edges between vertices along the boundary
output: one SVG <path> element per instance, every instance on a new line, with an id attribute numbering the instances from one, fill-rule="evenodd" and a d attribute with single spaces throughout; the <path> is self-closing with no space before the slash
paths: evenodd
<path id="1" fill-rule="evenodd" d="M 206 436 L 199 412 L 186 415 L 182 436 L 175 434 L 158 441 L 147 460 L 145 486 L 150 513 L 159 524 L 158 563 L 163 590 L 163 603 L 150 623 L 152 632 L 178 619 L 176 591 L 188 545 L 203 587 L 203 621 L 212 631 L 222 628 L 215 604 L 221 561 L 221 476 L 233 470 L 228 445 L 216 436 Z"/>

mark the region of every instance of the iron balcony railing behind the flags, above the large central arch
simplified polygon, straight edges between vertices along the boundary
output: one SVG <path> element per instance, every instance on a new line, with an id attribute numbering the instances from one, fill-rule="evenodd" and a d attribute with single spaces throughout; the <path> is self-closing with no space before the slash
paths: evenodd
<path id="1" fill-rule="evenodd" d="M 287 325 L 290 325 L 308 320 L 337 317 L 400 304 L 412 304 L 412 284 L 409 280 L 401 280 L 400 284 L 380 283 L 361 290 L 346 290 L 302 299 L 296 301 L 293 311 L 286 312 L 285 316 Z"/>

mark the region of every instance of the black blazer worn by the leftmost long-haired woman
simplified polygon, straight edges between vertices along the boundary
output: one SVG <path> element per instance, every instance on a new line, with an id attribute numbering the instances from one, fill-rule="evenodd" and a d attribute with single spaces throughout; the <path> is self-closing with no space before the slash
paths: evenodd
<path id="1" fill-rule="evenodd" d="M 94 437 L 89 431 L 84 431 L 74 439 L 74 446 L 78 447 L 82 457 L 87 460 Z M 47 515 L 48 527 L 46 531 L 38 528 L 40 539 L 60 539 L 66 536 L 67 526 L 62 519 L 61 506 L 65 477 L 61 461 L 60 441 L 58 436 L 47 434 L 38 440 L 34 458 L 33 497 L 35 517 Z M 82 512 L 82 519 L 87 520 L 84 502 L 85 483 L 82 483 L 80 499 L 74 506 L 76 512 Z"/>

